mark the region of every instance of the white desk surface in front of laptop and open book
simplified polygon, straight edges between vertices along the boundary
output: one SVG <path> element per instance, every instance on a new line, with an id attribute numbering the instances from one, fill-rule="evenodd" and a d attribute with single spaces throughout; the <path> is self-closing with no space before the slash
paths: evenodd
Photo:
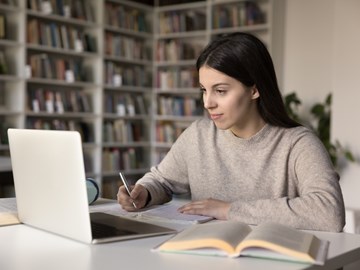
<path id="1" fill-rule="evenodd" d="M 360 260 L 360 235 L 312 232 L 331 242 L 324 267 L 254 258 L 152 252 L 170 236 L 86 245 L 27 225 L 0 227 L 0 269 L 338 269 Z"/>

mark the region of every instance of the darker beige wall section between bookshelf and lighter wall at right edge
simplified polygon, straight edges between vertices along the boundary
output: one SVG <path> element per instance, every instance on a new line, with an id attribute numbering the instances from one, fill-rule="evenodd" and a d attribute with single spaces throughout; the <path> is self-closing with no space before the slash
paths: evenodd
<path id="1" fill-rule="evenodd" d="M 286 1 L 282 89 L 296 91 L 305 106 L 332 91 L 333 2 Z"/>

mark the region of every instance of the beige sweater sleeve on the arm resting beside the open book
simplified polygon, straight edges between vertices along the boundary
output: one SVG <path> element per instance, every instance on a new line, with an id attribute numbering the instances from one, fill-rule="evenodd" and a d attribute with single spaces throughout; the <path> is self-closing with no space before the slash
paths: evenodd
<path id="1" fill-rule="evenodd" d="M 298 229 L 342 231 L 345 209 L 339 176 L 321 141 L 315 135 L 300 137 L 293 144 L 289 160 L 288 169 L 296 179 L 297 196 L 233 202 L 229 219 L 248 224 L 273 221 Z"/>

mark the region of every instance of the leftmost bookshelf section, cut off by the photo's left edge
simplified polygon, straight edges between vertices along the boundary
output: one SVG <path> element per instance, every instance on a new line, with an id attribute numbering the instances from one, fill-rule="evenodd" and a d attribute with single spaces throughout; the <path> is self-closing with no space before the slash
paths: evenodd
<path id="1" fill-rule="evenodd" d="M 23 25 L 22 6 L 14 1 L 0 1 L 0 161 L 2 166 L 7 164 L 10 168 L 6 130 L 23 123 Z M 8 166 L 0 170 L 0 196 L 14 190 L 12 175 L 6 171 Z"/>

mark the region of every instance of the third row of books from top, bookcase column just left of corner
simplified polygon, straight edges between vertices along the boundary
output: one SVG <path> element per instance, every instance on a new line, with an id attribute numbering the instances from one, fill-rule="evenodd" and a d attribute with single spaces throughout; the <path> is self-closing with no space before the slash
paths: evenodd
<path id="1" fill-rule="evenodd" d="M 113 86 L 151 87 L 151 71 L 142 66 L 123 65 L 113 61 L 105 61 L 105 84 Z"/>

